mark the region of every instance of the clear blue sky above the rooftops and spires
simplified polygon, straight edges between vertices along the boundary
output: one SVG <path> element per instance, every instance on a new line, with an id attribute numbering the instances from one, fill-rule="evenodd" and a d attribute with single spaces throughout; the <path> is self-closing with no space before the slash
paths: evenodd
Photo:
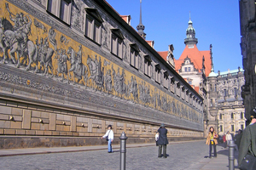
<path id="1" fill-rule="evenodd" d="M 140 0 L 107 0 L 120 14 L 131 15 L 136 29 L 140 17 Z M 200 51 L 212 44 L 214 72 L 242 68 L 239 0 L 142 0 L 146 40 L 154 41 L 156 51 L 174 46 L 178 59 L 185 48 L 184 39 L 190 19 Z"/>

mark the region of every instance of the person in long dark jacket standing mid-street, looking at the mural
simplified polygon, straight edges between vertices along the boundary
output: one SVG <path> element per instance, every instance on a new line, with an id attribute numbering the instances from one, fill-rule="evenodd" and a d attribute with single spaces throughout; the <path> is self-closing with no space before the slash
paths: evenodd
<path id="1" fill-rule="evenodd" d="M 166 144 L 168 143 L 168 139 L 167 139 L 167 129 L 165 127 L 165 124 L 162 123 L 160 128 L 158 129 L 158 133 L 159 133 L 159 139 L 157 140 L 156 144 L 159 145 L 159 150 L 158 150 L 158 157 L 161 157 L 162 154 L 162 148 L 163 148 L 163 155 L 164 158 L 166 158 Z"/>

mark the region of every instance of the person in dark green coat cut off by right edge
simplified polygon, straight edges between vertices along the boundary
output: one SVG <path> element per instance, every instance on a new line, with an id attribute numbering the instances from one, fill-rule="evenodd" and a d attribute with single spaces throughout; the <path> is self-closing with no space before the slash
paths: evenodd
<path id="1" fill-rule="evenodd" d="M 251 123 L 243 130 L 241 136 L 241 143 L 239 147 L 239 155 L 238 155 L 238 165 L 241 167 L 241 162 L 246 157 L 252 157 L 252 159 L 256 159 L 256 111 L 253 110 L 251 116 Z M 253 163 L 253 161 L 249 161 Z M 256 163 L 249 164 L 251 168 L 248 169 L 256 169 Z"/>

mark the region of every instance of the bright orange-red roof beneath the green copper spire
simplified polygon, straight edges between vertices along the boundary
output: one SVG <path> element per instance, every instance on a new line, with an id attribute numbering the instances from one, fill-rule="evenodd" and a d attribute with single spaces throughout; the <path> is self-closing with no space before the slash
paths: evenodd
<path id="1" fill-rule="evenodd" d="M 178 72 L 179 69 L 181 69 L 181 65 L 183 64 L 184 59 L 186 58 L 191 59 L 191 62 L 194 63 L 195 69 L 197 69 L 199 72 L 201 72 L 202 69 L 202 60 L 203 57 L 205 58 L 204 64 L 205 64 L 205 71 L 206 76 L 208 77 L 209 73 L 211 72 L 212 66 L 211 66 L 211 54 L 210 50 L 207 51 L 199 51 L 199 49 L 194 45 L 194 48 L 189 48 L 189 46 L 186 45 L 186 47 L 183 50 L 183 54 L 179 57 L 179 59 L 175 59 L 175 70 Z"/>

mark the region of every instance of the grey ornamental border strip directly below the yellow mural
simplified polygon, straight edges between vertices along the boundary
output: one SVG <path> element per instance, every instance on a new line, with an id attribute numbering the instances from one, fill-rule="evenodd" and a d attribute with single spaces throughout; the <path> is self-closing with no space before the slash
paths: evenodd
<path id="1" fill-rule="evenodd" d="M 171 114 L 166 114 L 165 112 L 157 111 L 139 104 L 131 104 L 128 101 L 110 99 L 108 95 L 102 96 L 101 93 L 97 94 L 76 88 L 73 85 L 62 84 L 47 77 L 34 75 L 30 71 L 17 71 L 15 68 L 9 67 L 8 65 L 0 64 L 0 80 L 2 88 L 15 88 L 15 90 L 20 90 L 27 94 L 44 94 L 44 96 L 49 97 L 49 99 L 56 99 L 55 97 L 57 96 L 57 99 L 60 101 L 62 99 L 61 103 L 65 103 L 63 102 L 65 98 L 71 98 L 75 99 L 74 102 L 77 102 L 78 105 L 88 103 L 96 108 L 101 105 L 101 107 L 105 107 L 103 107 L 102 110 L 117 111 L 119 114 L 123 114 L 123 116 L 129 118 L 137 117 L 141 120 L 154 120 L 159 123 L 163 121 L 173 122 L 173 125 L 176 127 L 184 127 L 192 130 L 201 129 L 200 123 L 189 122 L 185 119 L 181 120 L 180 117 L 172 116 Z"/>

